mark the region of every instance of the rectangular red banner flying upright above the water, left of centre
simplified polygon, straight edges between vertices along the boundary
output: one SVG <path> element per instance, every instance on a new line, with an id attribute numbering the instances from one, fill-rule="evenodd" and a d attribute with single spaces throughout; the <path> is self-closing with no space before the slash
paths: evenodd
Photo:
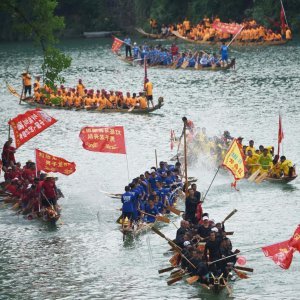
<path id="1" fill-rule="evenodd" d="M 79 134 L 82 147 L 94 152 L 126 154 L 123 126 L 84 127 Z"/>

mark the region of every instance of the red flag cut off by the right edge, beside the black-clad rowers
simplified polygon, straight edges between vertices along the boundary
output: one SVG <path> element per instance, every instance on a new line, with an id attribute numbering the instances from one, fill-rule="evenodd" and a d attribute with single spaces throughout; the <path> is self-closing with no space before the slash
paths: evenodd
<path id="1" fill-rule="evenodd" d="M 293 261 L 296 250 L 300 252 L 300 225 L 296 228 L 293 236 L 284 242 L 261 248 L 266 257 L 270 257 L 276 265 L 282 269 L 288 269 Z"/>

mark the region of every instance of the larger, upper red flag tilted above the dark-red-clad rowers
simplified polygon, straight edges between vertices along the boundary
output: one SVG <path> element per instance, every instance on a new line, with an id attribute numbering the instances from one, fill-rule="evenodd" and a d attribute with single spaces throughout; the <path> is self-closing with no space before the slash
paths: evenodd
<path id="1" fill-rule="evenodd" d="M 19 148 L 55 122 L 57 122 L 56 119 L 37 108 L 17 115 L 8 124 L 14 131 L 16 148 Z"/>

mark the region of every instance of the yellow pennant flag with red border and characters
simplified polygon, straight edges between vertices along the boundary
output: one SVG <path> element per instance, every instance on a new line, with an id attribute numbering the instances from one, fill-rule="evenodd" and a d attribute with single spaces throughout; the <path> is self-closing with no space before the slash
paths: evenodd
<path id="1" fill-rule="evenodd" d="M 237 144 L 236 139 L 233 140 L 223 160 L 224 167 L 226 167 L 234 176 L 235 182 L 232 184 L 236 187 L 236 181 L 245 177 L 245 165 L 243 154 Z"/>

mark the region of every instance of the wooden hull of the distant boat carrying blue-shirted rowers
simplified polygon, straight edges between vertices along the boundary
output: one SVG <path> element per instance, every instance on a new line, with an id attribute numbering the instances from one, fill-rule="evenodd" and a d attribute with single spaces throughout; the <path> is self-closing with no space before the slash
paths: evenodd
<path id="1" fill-rule="evenodd" d="M 136 62 L 140 62 L 140 60 L 133 60 L 132 58 L 129 57 L 125 57 L 125 56 L 121 56 L 121 55 L 117 55 L 117 57 L 123 61 L 126 62 L 132 66 L 142 66 L 140 63 L 136 63 Z M 198 67 L 196 68 L 191 68 L 191 67 L 186 67 L 185 69 L 183 68 L 175 68 L 174 65 L 148 65 L 148 68 L 153 68 L 153 69 L 169 69 L 169 70 L 189 70 L 189 71 L 224 71 L 224 70 L 229 70 L 235 67 L 235 59 L 232 59 L 232 61 L 224 67 Z"/>

